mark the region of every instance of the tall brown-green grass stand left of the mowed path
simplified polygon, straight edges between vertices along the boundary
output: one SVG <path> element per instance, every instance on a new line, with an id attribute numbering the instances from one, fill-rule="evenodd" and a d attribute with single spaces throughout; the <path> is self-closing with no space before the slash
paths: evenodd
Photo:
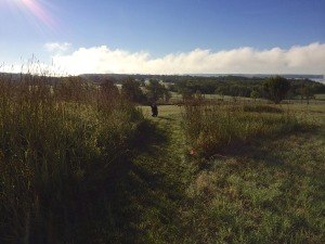
<path id="1" fill-rule="evenodd" d="M 105 216 L 109 229 L 107 185 L 144 123 L 117 93 L 77 101 L 83 90 L 63 97 L 48 79 L 0 79 L 1 243 L 76 240 Z"/>

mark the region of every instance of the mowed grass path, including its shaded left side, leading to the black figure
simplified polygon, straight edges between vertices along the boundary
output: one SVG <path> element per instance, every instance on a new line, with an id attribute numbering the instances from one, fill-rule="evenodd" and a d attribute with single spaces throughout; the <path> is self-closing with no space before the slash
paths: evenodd
<path id="1" fill-rule="evenodd" d="M 113 232 L 95 233 L 95 243 L 174 243 L 182 235 L 182 202 L 188 182 L 184 158 L 181 114 L 177 106 L 141 107 L 151 124 L 132 162 L 110 185 Z M 121 170 L 118 170 L 121 171 Z M 110 224 L 112 224 L 110 222 Z"/>

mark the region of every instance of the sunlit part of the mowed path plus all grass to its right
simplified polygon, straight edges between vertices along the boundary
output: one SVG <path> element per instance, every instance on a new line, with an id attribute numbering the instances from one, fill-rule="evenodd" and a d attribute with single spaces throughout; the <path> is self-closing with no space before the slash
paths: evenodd
<path id="1" fill-rule="evenodd" d="M 139 242 L 324 242 L 323 104 L 159 106 L 152 120 L 169 143 L 135 159 L 152 202 Z"/>

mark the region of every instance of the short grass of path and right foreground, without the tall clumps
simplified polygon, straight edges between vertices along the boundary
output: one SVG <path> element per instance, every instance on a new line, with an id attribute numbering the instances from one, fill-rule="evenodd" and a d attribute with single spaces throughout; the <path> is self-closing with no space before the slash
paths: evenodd
<path id="1" fill-rule="evenodd" d="M 325 243 L 325 110 L 291 108 L 317 126 L 207 160 L 190 155 L 180 107 L 142 107 L 152 132 L 116 189 L 113 242 Z"/>

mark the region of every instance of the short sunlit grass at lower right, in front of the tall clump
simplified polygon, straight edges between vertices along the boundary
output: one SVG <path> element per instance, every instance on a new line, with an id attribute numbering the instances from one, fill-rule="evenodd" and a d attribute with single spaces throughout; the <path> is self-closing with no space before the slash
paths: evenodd
<path id="1" fill-rule="evenodd" d="M 299 133 L 209 162 L 187 190 L 188 242 L 323 243 L 324 158 L 324 140 Z"/>

